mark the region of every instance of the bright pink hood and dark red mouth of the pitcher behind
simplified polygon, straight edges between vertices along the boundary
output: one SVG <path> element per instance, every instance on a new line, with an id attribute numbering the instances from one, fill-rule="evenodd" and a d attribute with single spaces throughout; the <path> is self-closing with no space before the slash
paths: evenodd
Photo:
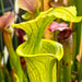
<path id="1" fill-rule="evenodd" d="M 57 23 L 57 22 L 52 22 L 49 26 L 49 31 L 52 33 L 55 31 L 60 31 L 60 33 L 57 35 L 57 38 L 60 38 L 60 39 L 66 39 L 68 38 L 71 33 L 72 33 L 72 30 L 68 27 L 68 24 L 67 23 Z"/>

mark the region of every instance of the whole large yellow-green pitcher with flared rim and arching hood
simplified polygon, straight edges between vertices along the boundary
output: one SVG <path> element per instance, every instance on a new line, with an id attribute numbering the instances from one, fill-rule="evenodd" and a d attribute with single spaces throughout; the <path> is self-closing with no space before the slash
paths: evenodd
<path id="1" fill-rule="evenodd" d="M 81 21 L 81 17 L 73 15 L 68 9 L 70 8 L 51 8 L 42 12 L 35 20 L 11 25 L 24 30 L 28 36 L 28 39 L 17 47 L 16 52 L 25 57 L 31 82 L 56 82 L 55 65 L 56 60 L 63 56 L 62 45 L 42 39 L 42 36 L 45 27 L 57 17 L 69 22 Z"/>

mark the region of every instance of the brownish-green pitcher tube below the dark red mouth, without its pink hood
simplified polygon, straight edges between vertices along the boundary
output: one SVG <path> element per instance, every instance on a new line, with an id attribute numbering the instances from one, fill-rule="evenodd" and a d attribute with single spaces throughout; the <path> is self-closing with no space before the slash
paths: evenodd
<path id="1" fill-rule="evenodd" d="M 71 82 L 72 35 L 67 39 L 59 39 L 59 42 L 63 45 L 59 82 Z"/>

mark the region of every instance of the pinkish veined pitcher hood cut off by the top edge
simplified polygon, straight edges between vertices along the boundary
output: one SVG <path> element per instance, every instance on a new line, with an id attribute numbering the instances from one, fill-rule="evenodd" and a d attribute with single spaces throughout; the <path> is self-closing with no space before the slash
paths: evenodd
<path id="1" fill-rule="evenodd" d="M 39 0 L 17 0 L 21 9 L 35 13 L 39 9 Z"/>

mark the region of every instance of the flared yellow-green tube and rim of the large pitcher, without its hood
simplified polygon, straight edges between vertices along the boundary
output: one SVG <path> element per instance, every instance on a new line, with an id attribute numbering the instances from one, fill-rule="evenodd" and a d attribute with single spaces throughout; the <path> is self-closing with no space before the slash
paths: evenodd
<path id="1" fill-rule="evenodd" d="M 23 48 L 23 45 L 19 46 L 16 52 L 19 56 L 25 57 L 30 81 L 55 82 L 55 63 L 56 59 L 60 60 L 63 56 L 62 46 L 59 43 L 52 40 L 42 39 L 42 47 L 39 54 L 25 55 L 24 52 L 22 52 Z M 26 50 L 24 49 L 24 51 Z"/>

